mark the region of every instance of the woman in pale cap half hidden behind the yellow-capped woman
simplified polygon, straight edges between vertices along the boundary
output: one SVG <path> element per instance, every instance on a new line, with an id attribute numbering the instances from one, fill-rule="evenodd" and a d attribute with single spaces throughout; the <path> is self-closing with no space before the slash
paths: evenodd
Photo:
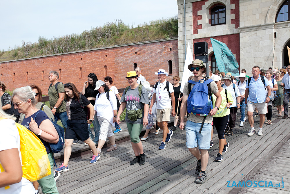
<path id="1" fill-rule="evenodd" d="M 150 83 L 148 81 L 145 81 L 142 84 L 143 84 L 142 86 L 144 86 L 144 88 L 148 92 L 149 103 L 151 103 L 151 99 L 153 96 L 153 88 L 150 87 Z M 148 125 L 146 126 L 146 132 L 145 132 L 144 136 L 140 139 L 141 141 L 145 141 L 148 139 L 148 134 L 149 134 L 151 127 L 154 127 L 154 129 L 156 129 L 156 123 L 154 123 L 154 121 L 153 121 L 153 117 L 156 118 L 156 114 L 157 114 L 156 113 L 156 104 L 154 104 L 152 107 L 152 114 L 148 113 Z"/>

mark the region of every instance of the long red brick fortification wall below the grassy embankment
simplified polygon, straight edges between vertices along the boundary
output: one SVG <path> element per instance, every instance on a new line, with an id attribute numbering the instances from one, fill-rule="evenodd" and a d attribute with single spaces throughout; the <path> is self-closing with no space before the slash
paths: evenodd
<path id="1" fill-rule="evenodd" d="M 171 51 L 170 48 L 172 48 Z M 168 72 L 168 60 L 172 60 L 172 75 L 166 79 L 172 82 L 173 76 L 178 75 L 178 40 L 3 62 L 0 63 L 0 79 L 9 90 L 36 84 L 40 86 L 43 94 L 47 94 L 50 84 L 49 71 L 60 72 L 59 69 L 61 69 L 60 81 L 74 83 L 79 91 L 82 90 L 88 74 L 92 72 L 99 80 L 104 80 L 106 75 L 111 76 L 113 85 L 119 89 L 128 86 L 125 76 L 126 72 L 134 70 L 133 63 L 137 63 L 137 67 L 141 68 L 141 75 L 153 85 L 157 81 L 157 75 L 154 72 L 158 69 L 165 69 Z M 105 65 L 107 66 L 106 75 Z M 82 68 L 81 78 L 80 67 Z"/>

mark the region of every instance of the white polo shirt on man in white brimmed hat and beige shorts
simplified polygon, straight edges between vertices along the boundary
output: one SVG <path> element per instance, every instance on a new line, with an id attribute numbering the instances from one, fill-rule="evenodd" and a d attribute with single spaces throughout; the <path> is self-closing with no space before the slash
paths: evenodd
<path id="1" fill-rule="evenodd" d="M 169 82 L 169 93 L 172 92 L 174 92 L 173 85 Z M 171 98 L 169 97 L 168 91 L 166 89 L 166 80 L 164 80 L 162 83 L 158 82 L 156 90 L 155 86 L 153 88 L 153 93 L 156 93 L 157 110 L 171 108 Z"/>

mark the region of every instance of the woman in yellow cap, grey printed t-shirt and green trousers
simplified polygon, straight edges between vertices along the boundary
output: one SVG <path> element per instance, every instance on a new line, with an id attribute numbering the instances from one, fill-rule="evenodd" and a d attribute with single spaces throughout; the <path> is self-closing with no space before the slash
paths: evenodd
<path id="1" fill-rule="evenodd" d="M 146 127 L 148 125 L 149 99 L 147 90 L 137 83 L 137 77 L 135 71 L 127 72 L 126 79 L 130 86 L 122 94 L 122 104 L 117 115 L 117 122 L 120 123 L 120 115 L 127 108 L 125 120 L 135 153 L 135 158 L 130 164 L 139 163 L 139 165 L 143 165 L 146 161 L 146 155 L 139 135 L 143 126 Z"/>

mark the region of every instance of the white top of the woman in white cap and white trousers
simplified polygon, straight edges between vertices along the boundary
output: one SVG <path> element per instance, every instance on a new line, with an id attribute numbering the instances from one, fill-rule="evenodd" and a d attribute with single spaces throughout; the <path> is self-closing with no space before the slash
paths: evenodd
<path id="1" fill-rule="evenodd" d="M 100 96 L 97 94 L 94 110 L 97 111 L 97 117 L 103 117 L 115 126 L 115 123 L 113 123 L 113 110 L 117 110 L 117 99 L 114 92 L 110 90 L 108 92 L 110 101 L 107 99 L 106 92 L 101 93 Z"/>

